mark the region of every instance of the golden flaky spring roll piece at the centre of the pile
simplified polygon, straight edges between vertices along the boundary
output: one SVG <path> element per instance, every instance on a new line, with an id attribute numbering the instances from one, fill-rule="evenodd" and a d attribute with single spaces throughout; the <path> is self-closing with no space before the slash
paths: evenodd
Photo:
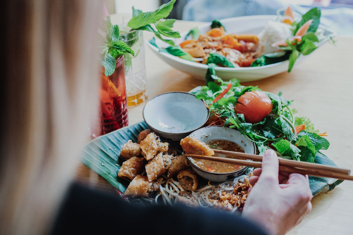
<path id="1" fill-rule="evenodd" d="M 146 165 L 146 173 L 148 176 L 148 180 L 152 181 L 157 179 L 161 174 L 167 171 L 172 156 L 163 155 L 163 153 L 159 153 L 156 157 L 150 160 Z"/>

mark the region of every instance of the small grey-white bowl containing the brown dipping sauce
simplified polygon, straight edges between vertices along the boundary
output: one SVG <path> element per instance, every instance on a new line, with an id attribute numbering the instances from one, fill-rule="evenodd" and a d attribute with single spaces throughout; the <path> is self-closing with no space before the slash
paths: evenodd
<path id="1" fill-rule="evenodd" d="M 246 138 L 246 136 L 241 135 L 238 130 L 234 130 L 228 127 L 223 126 L 207 126 L 201 129 L 198 129 L 190 134 L 201 140 L 204 143 L 208 143 L 211 140 L 227 140 L 232 141 L 238 144 L 241 148 L 244 149 L 245 153 L 256 154 L 256 145 L 251 140 Z M 190 157 L 186 157 L 187 161 L 190 162 L 192 169 L 200 175 L 202 178 L 214 181 L 214 182 L 225 182 L 228 180 L 233 180 L 239 175 L 243 175 L 247 167 L 242 167 L 237 171 L 227 172 L 227 173 L 217 173 L 209 172 L 204 169 L 199 168 L 195 165 L 193 160 Z"/>

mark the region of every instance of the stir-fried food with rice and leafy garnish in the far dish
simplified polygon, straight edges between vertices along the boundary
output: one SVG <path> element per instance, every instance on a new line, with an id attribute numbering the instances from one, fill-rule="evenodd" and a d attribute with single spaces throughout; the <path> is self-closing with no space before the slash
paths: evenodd
<path id="1" fill-rule="evenodd" d="M 202 34 L 195 27 L 179 45 L 160 48 L 155 38 L 149 42 L 160 51 L 185 60 L 221 67 L 257 67 L 289 60 L 291 72 L 300 55 L 309 55 L 324 38 L 333 41 L 324 34 L 325 30 L 319 29 L 319 8 L 304 15 L 294 13 L 289 6 L 285 11 L 280 9 L 258 35 L 228 32 L 220 21 L 214 20 L 209 31 Z"/>

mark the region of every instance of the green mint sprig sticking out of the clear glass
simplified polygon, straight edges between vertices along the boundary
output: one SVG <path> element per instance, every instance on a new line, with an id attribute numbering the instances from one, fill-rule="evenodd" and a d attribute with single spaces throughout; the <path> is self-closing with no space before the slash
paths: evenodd
<path id="1" fill-rule="evenodd" d="M 171 39 L 165 39 L 162 37 L 170 38 L 180 38 L 180 33 L 178 31 L 173 31 L 172 27 L 174 25 L 175 19 L 165 19 L 169 16 L 173 9 L 173 5 L 176 0 L 171 0 L 166 4 L 158 7 L 156 11 L 142 12 L 132 7 L 132 19 L 127 23 L 128 27 L 132 30 L 146 30 L 153 32 L 156 37 L 161 39 L 163 42 L 174 46 L 174 41 Z"/>

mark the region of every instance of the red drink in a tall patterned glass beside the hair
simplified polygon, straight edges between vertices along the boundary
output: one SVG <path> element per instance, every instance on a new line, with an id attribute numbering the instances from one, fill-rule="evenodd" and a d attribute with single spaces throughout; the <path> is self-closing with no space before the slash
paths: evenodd
<path id="1" fill-rule="evenodd" d="M 107 134 L 128 125 L 127 100 L 125 92 L 124 57 L 116 60 L 112 75 L 101 75 L 102 86 L 99 90 L 99 126 L 91 131 L 92 137 Z"/>

